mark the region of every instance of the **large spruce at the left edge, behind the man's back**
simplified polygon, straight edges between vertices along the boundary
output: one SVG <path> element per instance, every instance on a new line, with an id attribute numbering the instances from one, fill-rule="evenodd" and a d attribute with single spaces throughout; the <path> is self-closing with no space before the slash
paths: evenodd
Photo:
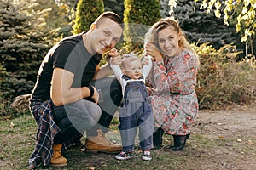
<path id="1" fill-rule="evenodd" d="M 4 98 L 31 93 L 39 64 L 53 43 L 50 38 L 55 31 L 49 31 L 40 17 L 48 10 L 34 10 L 36 5 L 1 0 L 0 71 L 5 77 L 0 82 L 0 95 Z"/>

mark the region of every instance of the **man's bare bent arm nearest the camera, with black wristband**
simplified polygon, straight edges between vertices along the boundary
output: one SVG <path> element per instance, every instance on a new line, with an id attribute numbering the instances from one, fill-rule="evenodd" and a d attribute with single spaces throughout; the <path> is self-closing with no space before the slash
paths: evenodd
<path id="1" fill-rule="evenodd" d="M 74 75 L 70 71 L 61 68 L 54 69 L 50 96 L 55 105 L 66 105 L 90 96 L 90 89 L 87 87 L 71 88 L 73 77 Z M 94 88 L 94 95 L 91 98 L 97 103 L 96 88 Z"/>

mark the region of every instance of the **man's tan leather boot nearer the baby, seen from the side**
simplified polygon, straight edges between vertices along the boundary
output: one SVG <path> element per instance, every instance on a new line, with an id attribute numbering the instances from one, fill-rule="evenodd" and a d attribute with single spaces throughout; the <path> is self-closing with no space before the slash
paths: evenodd
<path id="1" fill-rule="evenodd" d="M 97 136 L 91 136 L 86 138 L 85 147 L 86 151 L 90 152 L 102 152 L 102 153 L 119 153 L 122 150 L 121 144 L 112 144 L 106 139 L 102 130 L 98 130 Z"/>

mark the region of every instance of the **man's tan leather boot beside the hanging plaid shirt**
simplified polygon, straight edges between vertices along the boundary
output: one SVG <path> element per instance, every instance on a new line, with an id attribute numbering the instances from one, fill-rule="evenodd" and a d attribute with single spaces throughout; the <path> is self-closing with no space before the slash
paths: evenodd
<path id="1" fill-rule="evenodd" d="M 54 155 L 52 156 L 50 163 L 54 167 L 66 167 L 67 159 L 61 155 L 62 144 L 53 144 L 52 149 L 54 150 Z"/>

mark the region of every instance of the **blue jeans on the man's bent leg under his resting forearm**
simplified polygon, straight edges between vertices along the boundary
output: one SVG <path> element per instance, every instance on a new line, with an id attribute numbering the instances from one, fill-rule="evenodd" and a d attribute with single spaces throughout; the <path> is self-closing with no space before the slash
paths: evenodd
<path id="1" fill-rule="evenodd" d="M 55 135 L 54 143 L 62 144 L 84 131 L 95 126 L 102 115 L 102 110 L 95 103 L 80 99 L 77 102 L 53 106 L 54 119 L 61 132 Z"/>

